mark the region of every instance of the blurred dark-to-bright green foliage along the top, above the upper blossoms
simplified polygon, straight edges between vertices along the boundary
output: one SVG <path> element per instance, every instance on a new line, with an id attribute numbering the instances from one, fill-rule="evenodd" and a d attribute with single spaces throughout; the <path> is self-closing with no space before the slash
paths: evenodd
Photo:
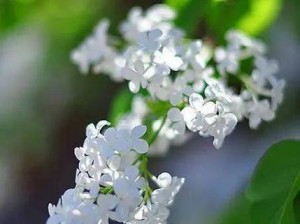
<path id="1" fill-rule="evenodd" d="M 277 17 L 282 0 L 166 0 L 178 13 L 176 24 L 193 34 L 222 41 L 227 30 L 237 28 L 250 35 L 264 31 Z M 202 27 L 202 29 L 203 29 Z"/>

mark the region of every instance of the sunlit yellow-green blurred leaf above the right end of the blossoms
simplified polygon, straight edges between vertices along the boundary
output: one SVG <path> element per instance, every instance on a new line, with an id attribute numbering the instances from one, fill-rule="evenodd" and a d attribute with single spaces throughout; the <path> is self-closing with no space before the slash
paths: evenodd
<path id="1" fill-rule="evenodd" d="M 282 0 L 231 0 L 210 2 L 206 10 L 209 33 L 223 40 L 229 29 L 259 35 L 277 17 Z"/>

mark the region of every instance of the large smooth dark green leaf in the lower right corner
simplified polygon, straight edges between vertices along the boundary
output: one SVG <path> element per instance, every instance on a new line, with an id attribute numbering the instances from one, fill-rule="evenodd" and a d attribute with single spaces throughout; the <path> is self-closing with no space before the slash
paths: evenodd
<path id="1" fill-rule="evenodd" d="M 296 224 L 294 200 L 300 191 L 300 141 L 273 145 L 260 160 L 246 191 L 255 224 Z"/>

